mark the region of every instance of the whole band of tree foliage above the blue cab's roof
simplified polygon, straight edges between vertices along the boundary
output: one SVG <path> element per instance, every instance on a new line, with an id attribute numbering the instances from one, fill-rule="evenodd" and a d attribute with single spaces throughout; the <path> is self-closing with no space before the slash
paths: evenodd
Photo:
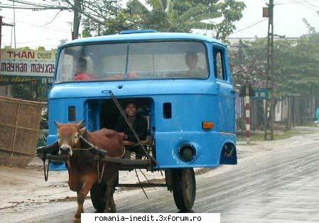
<path id="1" fill-rule="evenodd" d="M 126 7 L 119 3 L 123 1 L 77 1 L 81 4 L 79 18 L 83 17 L 84 36 L 114 34 L 134 28 L 173 32 L 201 29 L 212 30 L 216 38 L 225 40 L 234 31 L 234 22 L 242 18 L 245 7 L 242 1 L 234 0 L 146 0 L 146 5 L 130 0 Z M 75 0 L 58 2 L 67 9 L 75 9 Z"/>

